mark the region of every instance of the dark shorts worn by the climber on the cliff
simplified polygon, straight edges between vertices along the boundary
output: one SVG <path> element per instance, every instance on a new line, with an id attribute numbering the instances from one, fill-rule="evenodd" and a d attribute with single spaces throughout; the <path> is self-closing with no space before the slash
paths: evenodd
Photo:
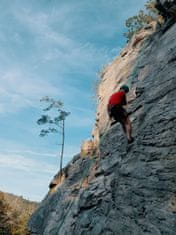
<path id="1" fill-rule="evenodd" d="M 114 118 L 115 121 L 120 123 L 123 123 L 128 117 L 128 113 L 121 105 L 108 106 L 108 114 L 110 118 Z"/>

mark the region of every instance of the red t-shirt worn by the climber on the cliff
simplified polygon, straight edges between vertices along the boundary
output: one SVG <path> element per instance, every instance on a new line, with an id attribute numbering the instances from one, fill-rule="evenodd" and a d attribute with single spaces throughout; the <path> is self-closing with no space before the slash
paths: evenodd
<path id="1" fill-rule="evenodd" d="M 114 106 L 114 105 L 124 105 L 126 104 L 126 95 L 124 91 L 118 91 L 111 95 L 109 98 L 108 105 Z"/>

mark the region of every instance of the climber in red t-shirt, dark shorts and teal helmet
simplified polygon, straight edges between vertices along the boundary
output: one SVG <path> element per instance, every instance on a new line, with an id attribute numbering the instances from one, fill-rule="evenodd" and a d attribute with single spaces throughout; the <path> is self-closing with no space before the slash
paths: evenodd
<path id="1" fill-rule="evenodd" d="M 134 140 L 131 136 L 132 125 L 128 117 L 128 113 L 123 108 L 123 105 L 127 104 L 126 93 L 128 92 L 129 87 L 127 85 L 123 85 L 120 87 L 120 90 L 118 92 L 115 92 L 110 96 L 108 102 L 108 114 L 110 120 L 112 121 L 111 125 L 117 122 L 121 123 L 122 128 L 127 136 L 128 143 L 130 144 Z"/>

